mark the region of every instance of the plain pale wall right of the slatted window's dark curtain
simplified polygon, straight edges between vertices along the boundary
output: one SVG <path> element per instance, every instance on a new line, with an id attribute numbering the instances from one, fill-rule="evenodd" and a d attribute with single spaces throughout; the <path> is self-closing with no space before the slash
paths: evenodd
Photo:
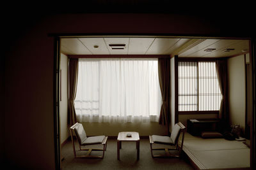
<path id="1" fill-rule="evenodd" d="M 230 124 L 245 124 L 245 67 L 244 55 L 228 59 L 228 103 Z"/>

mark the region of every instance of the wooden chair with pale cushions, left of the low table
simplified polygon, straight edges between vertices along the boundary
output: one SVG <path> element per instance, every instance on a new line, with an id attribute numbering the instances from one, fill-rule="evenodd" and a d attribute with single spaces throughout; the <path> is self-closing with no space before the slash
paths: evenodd
<path id="1" fill-rule="evenodd" d="M 86 155 L 76 155 L 76 147 L 74 144 L 74 139 L 73 139 L 73 132 L 75 131 L 77 141 L 79 143 L 79 149 L 80 150 L 87 150 Z M 70 135 L 72 139 L 72 145 L 73 145 L 73 152 L 74 152 L 74 157 L 75 158 L 103 158 L 104 157 L 104 152 L 107 149 L 107 139 L 108 136 L 92 136 L 92 137 L 87 137 L 86 132 L 84 131 L 83 125 L 76 123 L 70 127 Z M 103 149 L 93 149 L 93 148 L 86 148 L 82 149 L 81 146 L 86 146 L 86 145 L 103 145 Z M 102 156 L 92 156 L 90 153 L 92 151 L 103 151 Z"/>

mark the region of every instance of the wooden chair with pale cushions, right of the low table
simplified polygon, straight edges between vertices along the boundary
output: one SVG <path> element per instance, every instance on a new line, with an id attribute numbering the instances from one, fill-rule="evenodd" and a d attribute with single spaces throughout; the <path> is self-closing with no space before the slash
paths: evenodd
<path id="1" fill-rule="evenodd" d="M 180 153 L 182 152 L 183 142 L 184 142 L 184 132 L 186 127 L 180 122 L 175 124 L 172 129 L 171 136 L 158 136 L 152 135 L 149 136 L 150 142 L 150 150 L 153 158 L 155 157 L 180 157 Z M 179 136 L 180 132 L 182 132 L 181 145 L 179 146 Z M 153 148 L 154 143 L 161 145 L 170 145 L 172 148 Z M 165 150 L 164 155 L 154 155 L 153 150 Z M 169 150 L 174 150 L 174 153 L 170 153 Z"/>

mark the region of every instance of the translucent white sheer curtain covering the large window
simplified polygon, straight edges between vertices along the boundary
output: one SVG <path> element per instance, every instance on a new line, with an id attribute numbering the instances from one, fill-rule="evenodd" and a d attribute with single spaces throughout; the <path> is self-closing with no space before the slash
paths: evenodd
<path id="1" fill-rule="evenodd" d="M 79 122 L 158 122 L 157 59 L 79 59 Z"/>

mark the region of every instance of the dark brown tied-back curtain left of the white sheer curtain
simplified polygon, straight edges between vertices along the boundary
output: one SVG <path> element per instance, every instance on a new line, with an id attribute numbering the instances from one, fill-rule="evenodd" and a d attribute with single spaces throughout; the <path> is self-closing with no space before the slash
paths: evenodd
<path id="1" fill-rule="evenodd" d="M 68 124 L 74 125 L 77 122 L 74 101 L 76 99 L 78 77 L 78 59 L 69 59 L 68 65 Z"/>

